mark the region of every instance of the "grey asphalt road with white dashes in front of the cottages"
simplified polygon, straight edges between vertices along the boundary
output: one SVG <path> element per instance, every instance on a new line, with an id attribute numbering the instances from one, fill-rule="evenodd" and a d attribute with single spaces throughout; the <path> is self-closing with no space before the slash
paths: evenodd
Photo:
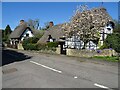
<path id="1" fill-rule="evenodd" d="M 3 88 L 118 88 L 117 63 L 5 49 L 2 68 Z"/>

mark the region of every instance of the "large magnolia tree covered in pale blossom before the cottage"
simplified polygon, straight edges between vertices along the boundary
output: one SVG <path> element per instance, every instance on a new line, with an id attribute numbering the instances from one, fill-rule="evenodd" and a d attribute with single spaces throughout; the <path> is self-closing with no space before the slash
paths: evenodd
<path id="1" fill-rule="evenodd" d="M 82 11 L 82 12 L 81 12 Z M 104 14 L 103 14 L 104 13 Z M 100 32 L 112 20 L 106 10 L 91 9 L 88 10 L 86 5 L 77 8 L 70 22 L 63 25 L 66 37 L 78 36 L 84 42 L 84 48 L 88 41 L 98 40 Z"/>

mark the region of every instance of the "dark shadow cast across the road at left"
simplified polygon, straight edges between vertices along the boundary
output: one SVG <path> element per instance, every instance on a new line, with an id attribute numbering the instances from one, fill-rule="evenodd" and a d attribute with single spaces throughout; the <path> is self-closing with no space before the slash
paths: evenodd
<path id="1" fill-rule="evenodd" d="M 14 50 L 2 50 L 2 66 L 23 61 L 32 58 L 32 56 L 25 55 L 24 53 L 20 53 Z"/>

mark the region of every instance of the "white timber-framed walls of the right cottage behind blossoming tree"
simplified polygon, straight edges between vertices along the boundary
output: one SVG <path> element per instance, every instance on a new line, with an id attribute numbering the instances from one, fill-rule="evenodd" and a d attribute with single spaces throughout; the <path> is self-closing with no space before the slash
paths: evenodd
<path id="1" fill-rule="evenodd" d="M 108 28 L 109 28 L 110 30 L 109 30 Z M 102 31 L 102 32 L 103 32 L 103 31 Z M 101 32 L 101 33 L 102 33 L 102 32 Z M 107 33 L 107 34 L 113 33 L 113 28 L 112 28 L 110 25 L 104 27 L 104 33 Z M 105 34 L 104 39 L 106 39 L 107 34 Z M 101 34 L 100 40 L 102 40 L 102 37 L 103 37 L 103 34 Z M 75 41 L 79 41 L 79 42 L 75 42 Z M 103 41 L 100 41 L 100 44 L 103 45 Z M 90 45 L 90 47 L 89 47 L 89 45 Z M 80 49 L 80 46 L 81 46 L 81 48 L 83 48 L 84 42 L 81 41 L 79 37 L 74 37 L 74 36 L 73 36 L 73 37 L 71 37 L 71 38 L 68 38 L 68 39 L 65 41 L 65 47 Z M 96 46 L 96 44 L 93 43 L 92 41 L 90 41 L 90 42 L 87 43 L 86 49 L 96 50 L 97 48 L 99 48 L 99 47 Z"/>

